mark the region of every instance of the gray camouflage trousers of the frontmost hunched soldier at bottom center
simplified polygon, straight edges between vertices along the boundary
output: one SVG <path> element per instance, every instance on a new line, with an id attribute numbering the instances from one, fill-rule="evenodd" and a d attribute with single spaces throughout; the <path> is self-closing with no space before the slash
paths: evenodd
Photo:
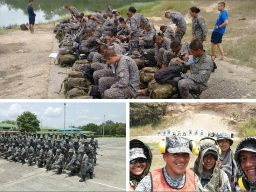
<path id="1" fill-rule="evenodd" d="M 111 88 L 117 82 L 115 77 L 102 77 L 99 80 L 99 91 L 102 98 L 105 99 L 125 99 L 132 98 L 135 93 L 124 88 Z"/>

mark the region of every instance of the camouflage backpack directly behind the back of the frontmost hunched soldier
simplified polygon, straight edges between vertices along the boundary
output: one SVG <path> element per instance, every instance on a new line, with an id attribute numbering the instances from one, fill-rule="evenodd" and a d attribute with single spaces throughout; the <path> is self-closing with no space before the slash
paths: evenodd
<path id="1" fill-rule="evenodd" d="M 155 79 L 154 75 L 158 71 L 157 67 L 146 67 L 140 70 L 140 88 L 145 89 L 147 84 Z"/>

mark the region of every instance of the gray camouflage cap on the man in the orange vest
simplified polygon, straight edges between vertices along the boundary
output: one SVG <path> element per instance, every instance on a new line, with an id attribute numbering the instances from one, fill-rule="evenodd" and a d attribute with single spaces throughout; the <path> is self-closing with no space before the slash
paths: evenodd
<path id="1" fill-rule="evenodd" d="M 167 151 L 169 153 L 188 153 L 193 155 L 189 149 L 190 140 L 185 137 L 170 136 L 166 137 Z"/>

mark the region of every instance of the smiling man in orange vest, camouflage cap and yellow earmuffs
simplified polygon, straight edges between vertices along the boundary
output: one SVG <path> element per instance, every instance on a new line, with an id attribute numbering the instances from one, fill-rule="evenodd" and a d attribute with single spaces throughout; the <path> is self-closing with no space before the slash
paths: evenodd
<path id="1" fill-rule="evenodd" d="M 192 155 L 190 140 L 184 137 L 166 137 L 167 149 L 163 154 L 166 166 L 153 170 L 144 177 L 135 191 L 203 191 L 193 170 L 186 167 Z"/>

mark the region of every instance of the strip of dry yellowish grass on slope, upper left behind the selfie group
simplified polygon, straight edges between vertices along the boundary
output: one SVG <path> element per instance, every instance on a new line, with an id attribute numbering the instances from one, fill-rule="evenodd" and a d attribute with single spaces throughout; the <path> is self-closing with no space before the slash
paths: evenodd
<path id="1" fill-rule="evenodd" d="M 143 126 L 136 126 L 130 129 L 130 136 L 145 136 L 150 135 L 153 133 L 157 133 L 157 130 L 167 129 L 168 127 L 176 124 L 180 121 L 182 115 L 173 116 L 173 117 L 163 117 L 156 126 L 153 125 L 143 125 Z"/>

